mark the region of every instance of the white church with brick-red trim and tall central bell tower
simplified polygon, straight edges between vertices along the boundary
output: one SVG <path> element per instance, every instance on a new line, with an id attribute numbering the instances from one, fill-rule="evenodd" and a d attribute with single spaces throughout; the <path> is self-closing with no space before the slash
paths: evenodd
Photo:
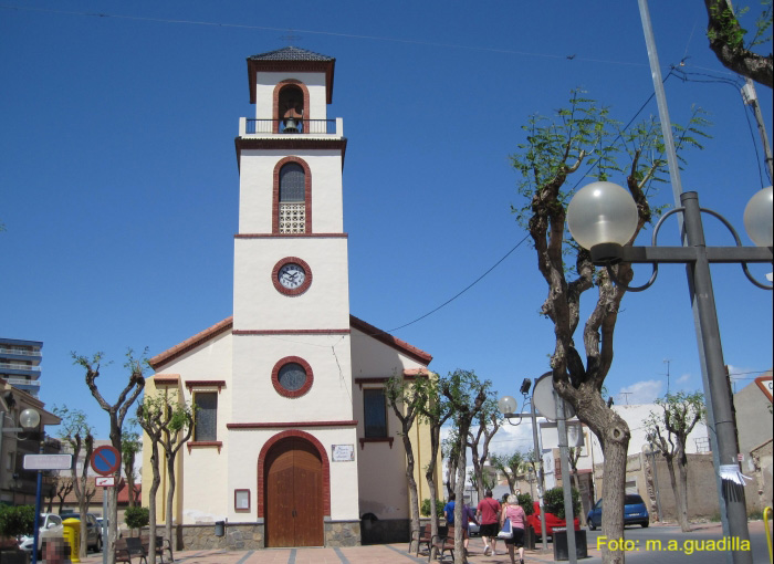
<path id="1" fill-rule="evenodd" d="M 247 60 L 255 118 L 236 138 L 233 315 L 150 359 L 146 395 L 196 406 L 171 515 L 165 478 L 157 498 L 185 549 L 408 541 L 406 452 L 384 385 L 432 377 L 432 357 L 349 313 L 334 66 L 293 46 Z M 421 502 L 430 439 L 421 425 L 410 435 Z"/>

